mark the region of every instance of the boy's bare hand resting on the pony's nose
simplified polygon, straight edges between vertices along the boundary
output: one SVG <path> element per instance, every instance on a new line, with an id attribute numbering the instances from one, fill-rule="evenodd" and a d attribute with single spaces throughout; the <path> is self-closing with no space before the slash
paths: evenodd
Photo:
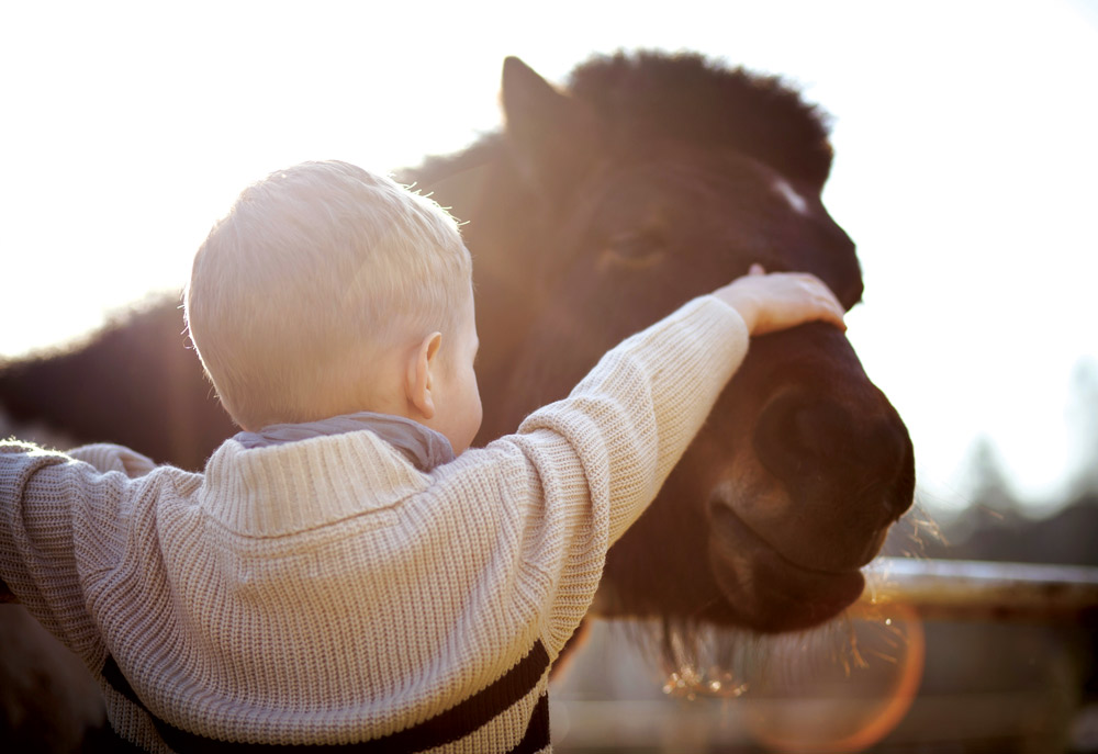
<path id="1" fill-rule="evenodd" d="M 831 289 L 806 272 L 772 272 L 761 265 L 713 292 L 740 313 L 751 335 L 784 330 L 806 322 L 821 320 L 847 329 L 843 308 Z"/>

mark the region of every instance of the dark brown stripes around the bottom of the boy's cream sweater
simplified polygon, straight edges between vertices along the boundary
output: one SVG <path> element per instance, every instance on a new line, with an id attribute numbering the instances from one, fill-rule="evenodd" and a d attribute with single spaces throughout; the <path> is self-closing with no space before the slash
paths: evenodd
<path id="1" fill-rule="evenodd" d="M 486 688 L 418 725 L 371 741 L 349 744 L 315 744 L 315 747 L 339 754 L 345 752 L 348 754 L 351 752 L 355 754 L 374 754 L 374 752 L 414 754 L 458 741 L 474 733 L 529 694 L 548 667 L 549 653 L 546 652 L 545 645 L 538 641 L 525 657 Z M 141 707 L 149 716 L 164 742 L 179 754 L 191 754 L 192 752 L 194 754 L 250 754 L 251 752 L 256 754 L 291 754 L 300 752 L 303 747 L 309 747 L 293 744 L 233 743 L 190 733 L 153 714 L 137 697 L 130 682 L 122 674 L 122 668 L 112 656 L 108 656 L 107 663 L 103 665 L 103 677 L 115 691 Z M 530 716 L 526 735 L 512 752 L 527 754 L 548 745 L 549 698 L 542 694 Z"/>

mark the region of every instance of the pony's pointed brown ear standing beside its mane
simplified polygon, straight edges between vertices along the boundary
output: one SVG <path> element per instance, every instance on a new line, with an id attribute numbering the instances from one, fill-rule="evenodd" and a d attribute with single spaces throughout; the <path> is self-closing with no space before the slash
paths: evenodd
<path id="1" fill-rule="evenodd" d="M 563 196 L 591 168 L 601 143 L 598 117 L 517 57 L 503 63 L 507 138 L 530 188 Z"/>

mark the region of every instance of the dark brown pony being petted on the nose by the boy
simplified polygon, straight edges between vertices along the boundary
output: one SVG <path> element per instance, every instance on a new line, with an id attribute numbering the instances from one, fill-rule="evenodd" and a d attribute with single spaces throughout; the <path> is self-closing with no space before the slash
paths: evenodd
<path id="1" fill-rule="evenodd" d="M 849 308 L 854 245 L 820 203 L 821 117 L 778 81 L 688 55 L 597 58 L 558 91 L 504 66 L 506 126 L 415 181 L 468 221 L 485 421 L 567 394 L 598 357 L 744 273 L 806 270 Z M 234 430 L 175 302 L 80 350 L 10 364 L 0 399 L 77 441 L 200 468 Z M 860 594 L 914 493 L 911 443 L 834 328 L 758 338 L 651 508 L 612 549 L 594 610 L 774 632 Z"/>

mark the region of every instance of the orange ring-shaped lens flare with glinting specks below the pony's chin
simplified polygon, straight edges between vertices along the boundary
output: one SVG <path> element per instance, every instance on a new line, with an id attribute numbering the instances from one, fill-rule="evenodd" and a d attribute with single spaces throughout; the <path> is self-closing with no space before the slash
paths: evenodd
<path id="1" fill-rule="evenodd" d="M 739 698 L 750 735 L 774 752 L 858 752 L 910 709 L 926 659 L 922 621 L 905 605 L 862 603 L 793 635 L 714 631 L 674 650 L 665 694 Z"/>

